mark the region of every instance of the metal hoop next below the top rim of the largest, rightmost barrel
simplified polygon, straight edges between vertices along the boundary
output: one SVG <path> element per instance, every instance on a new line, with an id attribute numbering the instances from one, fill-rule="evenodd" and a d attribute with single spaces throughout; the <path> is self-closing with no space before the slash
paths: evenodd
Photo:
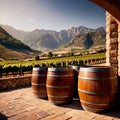
<path id="1" fill-rule="evenodd" d="M 78 76 L 78 78 L 83 79 L 83 80 L 114 80 L 114 79 L 117 79 L 116 76 L 114 76 L 114 77 L 104 77 L 104 78 L 95 78 L 95 77 L 91 78 L 91 77 Z"/>

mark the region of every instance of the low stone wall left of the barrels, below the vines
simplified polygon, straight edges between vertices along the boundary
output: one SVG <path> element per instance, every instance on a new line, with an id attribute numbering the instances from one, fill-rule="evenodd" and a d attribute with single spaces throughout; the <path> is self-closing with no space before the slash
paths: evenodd
<path id="1" fill-rule="evenodd" d="M 31 86 L 31 76 L 20 76 L 0 79 L 0 91 Z"/>

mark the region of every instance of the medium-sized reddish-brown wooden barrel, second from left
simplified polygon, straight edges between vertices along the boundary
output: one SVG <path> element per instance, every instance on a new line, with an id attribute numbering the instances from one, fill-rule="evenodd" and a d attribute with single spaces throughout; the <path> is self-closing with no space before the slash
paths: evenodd
<path id="1" fill-rule="evenodd" d="M 71 67 L 48 68 L 46 81 L 48 100 L 55 105 L 70 102 L 74 92 L 74 76 Z"/>

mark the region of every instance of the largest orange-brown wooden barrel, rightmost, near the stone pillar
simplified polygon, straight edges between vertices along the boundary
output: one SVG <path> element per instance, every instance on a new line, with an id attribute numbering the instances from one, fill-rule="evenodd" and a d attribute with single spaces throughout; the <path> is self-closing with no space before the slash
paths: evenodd
<path id="1" fill-rule="evenodd" d="M 102 112 L 115 105 L 118 91 L 117 76 L 109 66 L 81 67 L 78 91 L 84 110 Z"/>

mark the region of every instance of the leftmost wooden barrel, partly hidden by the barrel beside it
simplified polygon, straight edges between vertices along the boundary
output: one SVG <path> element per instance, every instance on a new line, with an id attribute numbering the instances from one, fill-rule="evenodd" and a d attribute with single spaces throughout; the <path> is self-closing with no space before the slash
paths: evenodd
<path id="1" fill-rule="evenodd" d="M 33 67 L 32 70 L 32 91 L 37 98 L 47 98 L 46 76 L 47 67 Z"/>

